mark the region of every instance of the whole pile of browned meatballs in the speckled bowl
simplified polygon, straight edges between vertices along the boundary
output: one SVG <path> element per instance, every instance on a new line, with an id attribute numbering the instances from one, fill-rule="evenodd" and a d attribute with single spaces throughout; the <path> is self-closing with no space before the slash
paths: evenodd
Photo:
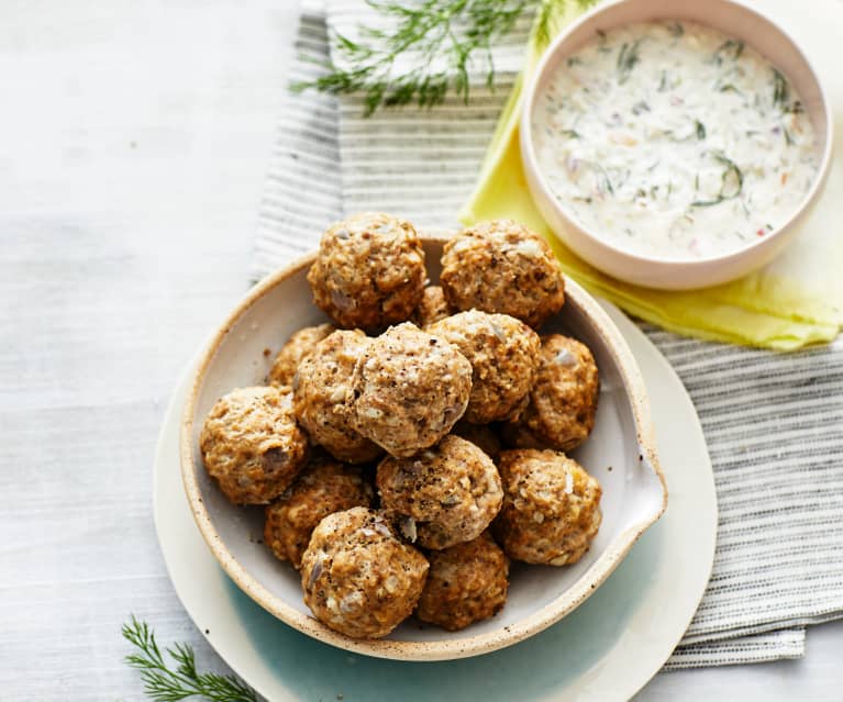
<path id="1" fill-rule="evenodd" d="M 540 336 L 565 301 L 547 244 L 515 222 L 450 239 L 428 285 L 410 222 L 331 225 L 308 274 L 331 323 L 281 348 L 267 385 L 221 398 L 200 448 L 330 628 L 448 631 L 499 612 L 510 559 L 566 566 L 600 526 L 600 484 L 569 452 L 591 432 L 591 352 Z"/>

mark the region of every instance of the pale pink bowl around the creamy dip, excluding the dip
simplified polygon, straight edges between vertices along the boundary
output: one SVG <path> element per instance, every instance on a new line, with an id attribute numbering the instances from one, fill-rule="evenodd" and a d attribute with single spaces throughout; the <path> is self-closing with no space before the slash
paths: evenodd
<path id="1" fill-rule="evenodd" d="M 632 254 L 602 239 L 578 222 L 553 194 L 536 158 L 532 118 L 537 98 L 563 59 L 595 36 L 633 22 L 653 20 L 699 22 L 735 36 L 781 68 L 799 93 L 817 133 L 819 169 L 813 183 L 789 220 L 745 248 L 696 260 L 668 260 Z M 788 34 L 772 20 L 733 0 L 618 0 L 602 4 L 568 26 L 550 46 L 528 87 L 521 115 L 521 158 L 530 192 L 555 234 L 577 255 L 620 280 L 648 288 L 688 290 L 734 280 L 772 260 L 799 232 L 819 198 L 829 172 L 833 120 L 822 85 L 808 59 Z"/>

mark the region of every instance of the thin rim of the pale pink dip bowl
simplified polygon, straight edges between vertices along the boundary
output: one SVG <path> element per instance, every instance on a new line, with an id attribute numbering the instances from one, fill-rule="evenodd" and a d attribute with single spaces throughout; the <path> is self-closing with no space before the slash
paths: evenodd
<path id="1" fill-rule="evenodd" d="M 542 58 L 540 59 L 539 65 L 536 66 L 535 71 L 533 73 L 533 76 L 530 79 L 530 82 L 525 92 L 525 99 L 521 108 L 521 115 L 520 115 L 521 161 L 524 166 L 524 169 L 528 171 L 528 174 L 532 176 L 532 178 L 529 179 L 531 181 L 531 185 L 535 183 L 535 186 L 539 188 L 541 192 L 541 197 L 546 201 L 546 204 L 556 211 L 556 213 L 565 221 L 566 225 L 576 229 L 576 231 L 578 233 L 581 233 L 585 237 L 587 237 L 592 245 L 597 247 L 604 247 L 606 249 L 610 250 L 613 255 L 618 255 L 619 257 L 624 257 L 626 259 L 626 263 L 629 263 L 630 265 L 643 265 L 643 266 L 653 266 L 653 267 L 657 266 L 657 267 L 666 267 L 676 271 L 683 271 L 683 270 L 690 271 L 690 270 L 696 270 L 702 267 L 711 267 L 711 266 L 717 266 L 719 264 L 728 265 L 736 260 L 741 260 L 745 256 L 751 255 L 751 252 L 755 252 L 759 248 L 767 248 L 772 246 L 772 243 L 774 241 L 780 238 L 780 235 L 788 232 L 790 227 L 797 223 L 797 221 L 801 218 L 801 215 L 810 210 L 810 208 L 814 204 L 814 202 L 821 194 L 822 189 L 825 186 L 825 181 L 828 180 L 828 177 L 829 177 L 831 159 L 832 159 L 833 149 L 834 149 L 834 119 L 833 119 L 832 111 L 830 109 L 831 102 L 829 101 L 828 90 L 825 89 L 825 86 L 823 85 L 822 80 L 820 80 L 820 76 L 814 69 L 813 64 L 808 59 L 808 57 L 806 56 L 799 43 L 790 35 L 789 32 L 787 32 L 785 27 L 783 27 L 778 22 L 769 18 L 764 12 L 761 12 L 754 7 L 747 5 L 742 0 L 718 0 L 718 2 L 721 2 L 722 4 L 733 5 L 734 8 L 737 8 L 740 11 L 743 11 L 750 15 L 753 15 L 756 20 L 761 21 L 763 24 L 766 24 L 768 27 L 776 31 L 784 38 L 786 43 L 790 44 L 790 47 L 796 52 L 796 54 L 802 60 L 805 66 L 808 68 L 810 76 L 813 78 L 814 82 L 817 83 L 817 87 L 819 89 L 818 92 L 820 97 L 819 112 L 825 118 L 825 131 L 824 131 L 825 144 L 822 149 L 822 154 L 820 157 L 820 165 L 817 169 L 817 174 L 813 177 L 813 181 L 808 192 L 806 192 L 806 194 L 800 200 L 798 207 L 794 209 L 794 211 L 787 218 L 787 220 L 785 220 L 777 227 L 774 227 L 773 231 L 768 232 L 765 236 L 759 237 L 751 242 L 746 246 L 739 248 L 736 250 L 733 250 L 731 253 L 719 254 L 717 256 L 707 256 L 705 258 L 695 258 L 695 259 L 686 259 L 686 258 L 674 259 L 674 258 L 659 258 L 655 256 L 646 256 L 643 254 L 636 254 L 634 252 L 630 252 L 624 248 L 620 248 L 607 242 L 606 239 L 599 237 L 597 234 L 595 234 L 594 227 L 578 222 L 576 218 L 573 215 L 573 213 L 569 212 L 563 205 L 563 203 L 561 203 L 559 200 L 554 196 L 553 191 L 547 186 L 547 180 L 544 176 L 544 171 L 539 165 L 539 159 L 536 158 L 535 148 L 534 148 L 533 126 L 532 126 L 531 116 L 540 94 L 540 91 L 539 91 L 540 83 L 544 82 L 545 75 L 548 71 L 554 70 L 557 67 L 558 63 L 566 55 L 566 52 L 561 51 L 559 48 L 561 45 L 568 37 L 570 37 L 572 34 L 580 31 L 580 27 L 585 23 L 592 21 L 595 18 L 602 16 L 602 15 L 607 15 L 611 18 L 614 12 L 618 12 L 619 8 L 622 8 L 624 5 L 634 5 L 637 2 L 644 2 L 644 1 L 646 0 L 609 0 L 608 2 L 601 3 L 597 5 L 596 8 L 592 8 L 588 12 L 584 13 L 581 16 L 577 18 L 551 42 L 550 46 L 544 51 L 544 54 Z M 664 11 L 664 9 L 659 9 L 659 13 L 662 13 L 659 14 L 661 19 L 665 19 L 665 20 L 673 19 L 673 13 L 668 11 Z M 706 24 L 705 21 L 699 21 L 699 20 L 695 20 L 695 21 L 703 25 Z M 716 27 L 711 27 L 711 29 L 716 29 Z M 746 43 L 750 45 L 753 44 L 752 41 L 747 41 Z M 758 49 L 756 48 L 755 51 L 758 51 Z M 761 52 L 758 53 L 761 54 Z M 775 64 L 775 62 L 773 62 L 768 56 L 764 54 L 762 54 L 762 56 L 764 56 L 768 62 Z M 564 242 L 568 244 L 568 238 L 565 237 Z M 574 246 L 572 246 L 572 248 L 574 248 Z M 576 252 L 576 249 L 574 250 L 575 253 L 578 253 Z"/>

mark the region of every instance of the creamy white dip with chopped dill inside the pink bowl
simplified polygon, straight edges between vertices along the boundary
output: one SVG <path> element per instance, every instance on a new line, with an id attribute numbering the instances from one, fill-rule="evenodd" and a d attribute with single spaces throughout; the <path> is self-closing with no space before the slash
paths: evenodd
<path id="1" fill-rule="evenodd" d="M 551 77 L 533 134 L 541 170 L 575 219 L 653 258 L 748 246 L 794 213 L 818 169 L 787 77 L 694 22 L 598 32 Z"/>

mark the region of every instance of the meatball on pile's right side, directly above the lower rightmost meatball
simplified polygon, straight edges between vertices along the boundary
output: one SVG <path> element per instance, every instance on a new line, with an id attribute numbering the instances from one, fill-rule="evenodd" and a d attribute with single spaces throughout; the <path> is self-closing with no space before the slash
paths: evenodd
<path id="1" fill-rule="evenodd" d="M 542 337 L 530 400 L 504 438 L 519 448 L 573 450 L 595 426 L 600 382 L 587 346 L 562 334 Z"/>

